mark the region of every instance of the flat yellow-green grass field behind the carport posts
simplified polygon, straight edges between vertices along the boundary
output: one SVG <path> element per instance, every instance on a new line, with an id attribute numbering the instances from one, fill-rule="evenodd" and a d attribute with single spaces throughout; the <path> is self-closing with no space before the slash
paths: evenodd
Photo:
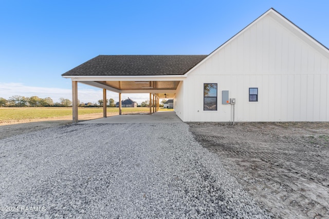
<path id="1" fill-rule="evenodd" d="M 160 111 L 172 111 L 172 109 L 161 109 Z M 122 108 L 122 114 L 138 113 L 138 112 L 150 112 L 150 108 L 136 107 L 136 108 Z M 103 113 L 103 108 L 93 107 L 79 107 L 79 115 Z M 119 113 L 119 108 L 108 107 L 107 113 Z M 36 118 L 54 118 L 61 116 L 72 115 L 71 107 L 0 107 L 0 121 L 19 121 L 19 120 L 31 120 Z"/>

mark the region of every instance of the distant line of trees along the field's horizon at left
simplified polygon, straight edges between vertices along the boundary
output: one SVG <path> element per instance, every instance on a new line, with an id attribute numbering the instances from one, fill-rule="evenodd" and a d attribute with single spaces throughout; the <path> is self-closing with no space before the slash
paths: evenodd
<path id="1" fill-rule="evenodd" d="M 106 99 L 108 107 L 115 107 L 114 99 Z M 20 95 L 10 96 L 8 99 L 0 97 L 0 107 L 71 107 L 72 102 L 63 97 L 54 103 L 50 97 L 40 98 L 38 96 L 25 97 Z M 79 107 L 103 107 L 103 99 L 98 103 L 83 103 L 78 100 Z"/>

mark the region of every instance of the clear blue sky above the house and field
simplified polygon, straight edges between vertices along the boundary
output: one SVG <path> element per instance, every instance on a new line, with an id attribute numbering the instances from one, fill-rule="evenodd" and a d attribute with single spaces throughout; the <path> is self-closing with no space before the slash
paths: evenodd
<path id="1" fill-rule="evenodd" d="M 61 74 L 99 54 L 209 54 L 271 7 L 329 47 L 327 0 L 0 0 L 0 97 L 71 99 Z M 78 89 L 81 102 L 102 98 L 101 89 Z"/>

